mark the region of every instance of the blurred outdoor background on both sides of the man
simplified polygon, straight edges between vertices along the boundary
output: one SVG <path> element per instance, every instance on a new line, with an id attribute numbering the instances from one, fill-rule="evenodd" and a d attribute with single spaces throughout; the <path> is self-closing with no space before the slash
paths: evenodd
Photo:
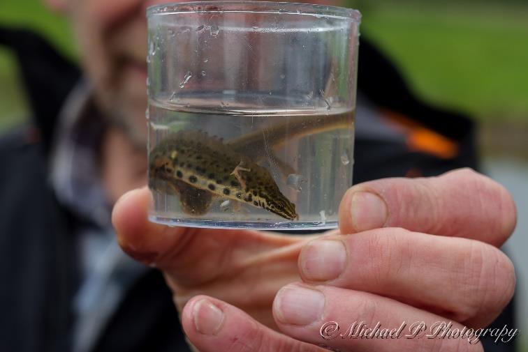
<path id="1" fill-rule="evenodd" d="M 518 274 L 518 343 L 528 352 L 528 1 L 348 0 L 362 32 L 423 100 L 478 123 L 481 171 L 506 186 L 518 228 L 506 250 Z M 75 60 L 68 22 L 41 0 L 0 1 L 0 24 L 41 33 Z M 0 46 L 0 132 L 29 116 L 14 56 Z M 511 327 L 510 327 L 511 328 Z"/>

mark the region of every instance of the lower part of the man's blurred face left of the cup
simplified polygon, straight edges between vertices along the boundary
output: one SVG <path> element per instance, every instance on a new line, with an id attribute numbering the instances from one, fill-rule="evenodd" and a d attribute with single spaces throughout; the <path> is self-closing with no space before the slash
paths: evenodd
<path id="1" fill-rule="evenodd" d="M 135 144 L 145 144 L 147 125 L 147 21 L 156 0 L 47 0 L 71 17 L 82 65 L 105 115 L 125 128 Z M 337 1 L 304 1 L 335 4 Z"/>

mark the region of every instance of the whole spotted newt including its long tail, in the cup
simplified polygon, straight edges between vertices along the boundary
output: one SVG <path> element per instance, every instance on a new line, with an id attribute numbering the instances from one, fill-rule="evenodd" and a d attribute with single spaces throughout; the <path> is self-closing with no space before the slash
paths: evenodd
<path id="1" fill-rule="evenodd" d="M 226 142 L 206 132 L 181 130 L 160 141 L 150 153 L 149 187 L 177 195 L 182 210 L 191 215 L 207 213 L 213 197 L 221 197 L 296 220 L 295 204 L 281 193 L 270 172 L 255 161 L 262 146 L 275 148 L 288 138 L 351 128 L 351 121 L 351 111 L 296 116 Z"/>

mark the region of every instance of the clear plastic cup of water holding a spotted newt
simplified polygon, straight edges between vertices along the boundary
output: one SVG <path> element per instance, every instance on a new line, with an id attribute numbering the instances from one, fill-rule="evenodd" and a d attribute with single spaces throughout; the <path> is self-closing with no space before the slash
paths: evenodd
<path id="1" fill-rule="evenodd" d="M 337 227 L 352 183 L 360 13 L 205 1 L 147 10 L 150 220 Z"/>

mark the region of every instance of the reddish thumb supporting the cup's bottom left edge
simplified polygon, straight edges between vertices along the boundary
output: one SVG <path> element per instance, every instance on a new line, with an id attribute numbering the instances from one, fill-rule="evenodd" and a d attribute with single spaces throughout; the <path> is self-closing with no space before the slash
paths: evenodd
<path id="1" fill-rule="evenodd" d="M 248 257 L 299 241 L 258 231 L 155 224 L 147 218 L 151 203 L 148 188 L 128 192 L 117 201 L 112 212 L 117 241 L 131 257 L 160 268 L 180 285 L 210 281 Z"/>

